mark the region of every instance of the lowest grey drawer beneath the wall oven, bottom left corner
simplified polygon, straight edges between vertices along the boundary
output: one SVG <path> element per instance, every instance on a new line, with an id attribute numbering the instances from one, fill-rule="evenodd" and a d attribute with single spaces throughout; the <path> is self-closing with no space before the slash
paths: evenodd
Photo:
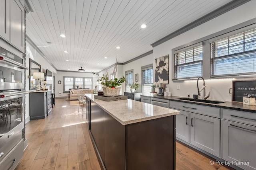
<path id="1" fill-rule="evenodd" d="M 0 170 L 14 170 L 23 156 L 23 139 L 0 162 Z"/>

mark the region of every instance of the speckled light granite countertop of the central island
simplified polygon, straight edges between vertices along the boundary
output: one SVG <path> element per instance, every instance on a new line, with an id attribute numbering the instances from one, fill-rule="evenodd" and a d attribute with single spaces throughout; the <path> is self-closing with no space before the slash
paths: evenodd
<path id="1" fill-rule="evenodd" d="M 90 98 L 92 102 L 96 103 L 122 125 L 172 116 L 180 113 L 180 111 L 174 109 L 168 109 L 130 99 L 106 102 L 104 100 L 94 99 L 94 95 L 96 94 L 86 94 L 87 98 Z"/>

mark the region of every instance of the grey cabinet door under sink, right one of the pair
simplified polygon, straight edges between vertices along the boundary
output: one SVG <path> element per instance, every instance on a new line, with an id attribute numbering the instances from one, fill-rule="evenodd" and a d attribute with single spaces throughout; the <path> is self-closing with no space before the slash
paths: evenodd
<path id="1" fill-rule="evenodd" d="M 190 113 L 190 143 L 220 157 L 220 119 Z"/>

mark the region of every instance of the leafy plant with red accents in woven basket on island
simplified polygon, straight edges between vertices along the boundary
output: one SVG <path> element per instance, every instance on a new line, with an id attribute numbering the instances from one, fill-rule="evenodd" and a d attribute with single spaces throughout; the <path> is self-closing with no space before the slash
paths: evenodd
<path id="1" fill-rule="evenodd" d="M 113 80 L 109 78 L 108 73 L 99 76 L 98 73 L 92 72 L 94 75 L 98 76 L 97 82 L 105 87 L 102 87 L 104 96 L 118 96 L 121 90 L 120 86 L 123 82 L 126 82 L 126 78 L 123 76 L 121 78 L 114 78 Z"/>

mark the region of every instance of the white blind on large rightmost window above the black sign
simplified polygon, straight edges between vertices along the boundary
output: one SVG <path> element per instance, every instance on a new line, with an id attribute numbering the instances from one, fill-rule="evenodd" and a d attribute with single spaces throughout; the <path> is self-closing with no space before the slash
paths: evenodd
<path id="1" fill-rule="evenodd" d="M 211 76 L 255 74 L 256 29 L 211 43 Z"/>

